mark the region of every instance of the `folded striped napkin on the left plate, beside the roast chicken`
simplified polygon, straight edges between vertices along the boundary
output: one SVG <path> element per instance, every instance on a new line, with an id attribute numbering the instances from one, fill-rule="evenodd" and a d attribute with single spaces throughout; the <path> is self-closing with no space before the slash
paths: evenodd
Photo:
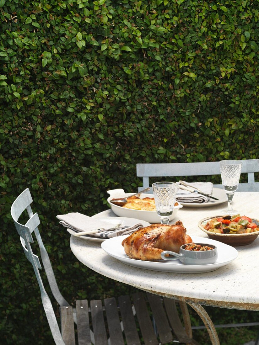
<path id="1" fill-rule="evenodd" d="M 60 220 L 59 224 L 76 232 L 103 229 L 96 234 L 89 235 L 93 237 L 111 238 L 121 235 L 130 235 L 137 229 L 143 228 L 143 225 L 138 223 L 131 227 L 121 226 L 115 230 L 109 230 L 113 228 L 113 224 L 109 221 L 88 217 L 78 212 L 71 212 L 66 215 L 57 215 L 57 218 Z M 119 222 L 120 218 L 118 217 L 118 223 Z"/>

